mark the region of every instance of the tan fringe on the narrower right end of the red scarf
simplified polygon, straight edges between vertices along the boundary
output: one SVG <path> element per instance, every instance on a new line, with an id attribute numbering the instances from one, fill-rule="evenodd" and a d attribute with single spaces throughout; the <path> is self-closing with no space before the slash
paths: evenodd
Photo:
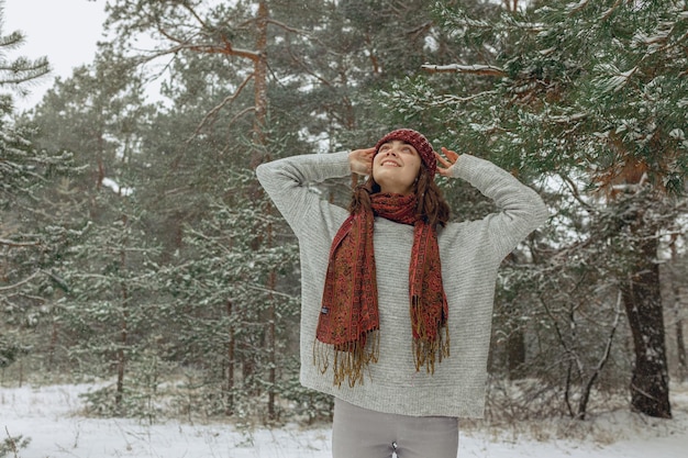
<path id="1" fill-rule="evenodd" d="M 442 358 L 450 357 L 450 328 L 446 322 L 437 320 L 434 332 L 431 334 L 425 327 L 425 320 L 422 316 L 422 306 L 418 298 L 411 302 L 411 314 L 415 315 L 415 326 L 413 328 L 413 356 L 415 358 L 415 371 L 420 371 L 425 366 L 425 371 L 434 375 L 435 362 L 442 362 Z"/>

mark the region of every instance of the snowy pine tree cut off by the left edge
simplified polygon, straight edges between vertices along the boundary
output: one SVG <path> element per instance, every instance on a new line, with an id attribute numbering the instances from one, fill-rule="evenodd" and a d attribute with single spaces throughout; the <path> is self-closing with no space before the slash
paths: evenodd
<path id="1" fill-rule="evenodd" d="M 70 156 L 48 154 L 32 144 L 33 132 L 18 126 L 13 96 L 49 70 L 45 57 L 32 60 L 7 54 L 21 47 L 24 35 L 2 34 L 0 9 L 0 366 L 8 367 L 30 353 L 35 329 L 49 314 L 49 295 L 59 279 L 43 254 L 49 250 L 53 215 L 43 212 L 42 191 L 69 170 Z M 21 381 L 21 375 L 20 375 Z"/>

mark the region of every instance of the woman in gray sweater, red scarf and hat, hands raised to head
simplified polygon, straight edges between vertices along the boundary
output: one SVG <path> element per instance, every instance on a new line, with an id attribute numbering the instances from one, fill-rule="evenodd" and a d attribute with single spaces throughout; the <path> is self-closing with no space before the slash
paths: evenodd
<path id="1" fill-rule="evenodd" d="M 300 380 L 335 399 L 334 458 L 454 458 L 457 418 L 482 416 L 497 269 L 546 209 L 491 163 L 442 152 L 401 129 L 373 148 L 257 168 L 299 239 Z M 352 172 L 368 179 L 348 210 L 309 190 Z M 436 174 L 499 212 L 448 222 Z"/>

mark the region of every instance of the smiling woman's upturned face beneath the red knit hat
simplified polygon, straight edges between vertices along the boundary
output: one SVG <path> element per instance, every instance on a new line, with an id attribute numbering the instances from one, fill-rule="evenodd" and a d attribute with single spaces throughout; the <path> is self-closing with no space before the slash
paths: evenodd
<path id="1" fill-rule="evenodd" d="M 421 169 L 421 157 L 408 143 L 384 143 L 373 159 L 373 178 L 384 193 L 410 194 Z"/>

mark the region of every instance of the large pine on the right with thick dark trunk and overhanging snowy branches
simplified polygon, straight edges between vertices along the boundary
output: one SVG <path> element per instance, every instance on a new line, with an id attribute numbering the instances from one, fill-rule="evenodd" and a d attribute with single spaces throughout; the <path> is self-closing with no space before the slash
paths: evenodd
<path id="1" fill-rule="evenodd" d="M 688 172 L 685 8 L 683 1 L 552 1 L 478 19 L 437 2 L 445 30 L 463 45 L 480 46 L 484 58 L 425 70 L 458 74 L 458 85 L 481 78 L 487 88 L 457 93 L 402 83 L 395 102 L 443 119 L 464 150 L 525 180 L 557 177 L 577 199 L 595 191 L 597 201 L 586 197 L 584 209 L 613 222 L 597 234 L 618 256 L 609 268 L 635 345 L 631 403 L 659 417 L 669 417 L 670 406 L 655 259 L 658 236 L 676 216 L 672 196 Z"/>

